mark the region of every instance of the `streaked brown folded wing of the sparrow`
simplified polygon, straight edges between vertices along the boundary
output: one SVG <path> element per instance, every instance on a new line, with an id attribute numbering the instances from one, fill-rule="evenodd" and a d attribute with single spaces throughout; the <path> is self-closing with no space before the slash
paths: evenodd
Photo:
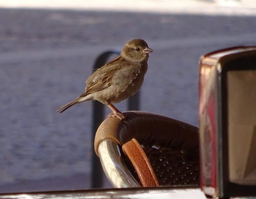
<path id="1" fill-rule="evenodd" d="M 83 95 L 88 95 L 111 86 L 111 80 L 116 72 L 121 67 L 120 61 L 122 62 L 122 57 L 118 56 L 96 70 L 87 80 L 86 88 Z"/>

